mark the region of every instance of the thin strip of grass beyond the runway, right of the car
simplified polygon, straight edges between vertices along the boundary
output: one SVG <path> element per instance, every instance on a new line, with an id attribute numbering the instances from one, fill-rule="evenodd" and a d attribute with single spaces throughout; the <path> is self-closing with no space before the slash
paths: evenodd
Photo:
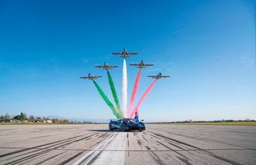
<path id="1" fill-rule="evenodd" d="M 157 123 L 152 123 L 157 124 Z M 159 123 L 161 125 L 248 125 L 256 126 L 256 122 L 224 122 L 224 123 Z"/>

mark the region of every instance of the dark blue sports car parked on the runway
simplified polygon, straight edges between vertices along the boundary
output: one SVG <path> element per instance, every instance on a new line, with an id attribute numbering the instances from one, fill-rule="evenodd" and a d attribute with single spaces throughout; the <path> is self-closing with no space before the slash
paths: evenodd
<path id="1" fill-rule="evenodd" d="M 119 120 L 110 120 L 109 122 L 109 130 L 120 130 L 124 132 L 128 130 L 143 131 L 145 129 L 146 127 L 144 123 L 142 122 L 137 123 L 135 120 L 129 119 L 129 118 L 123 118 Z"/>

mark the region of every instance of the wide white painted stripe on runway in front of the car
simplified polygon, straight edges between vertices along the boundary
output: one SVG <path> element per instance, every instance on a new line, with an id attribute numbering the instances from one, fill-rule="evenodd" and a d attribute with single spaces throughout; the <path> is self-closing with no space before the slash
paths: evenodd
<path id="1" fill-rule="evenodd" d="M 99 146 L 94 148 L 94 151 L 87 153 L 80 160 L 74 163 L 74 165 L 123 165 L 125 144 L 126 133 L 115 132 L 111 138 L 103 141 L 101 144 L 99 144 Z M 115 150 L 123 151 L 116 152 Z"/>

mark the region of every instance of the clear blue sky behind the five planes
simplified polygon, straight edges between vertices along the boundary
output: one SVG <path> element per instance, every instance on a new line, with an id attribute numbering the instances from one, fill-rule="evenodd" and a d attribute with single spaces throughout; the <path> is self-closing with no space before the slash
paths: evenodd
<path id="1" fill-rule="evenodd" d="M 114 102 L 104 70 L 111 70 L 121 102 L 127 64 L 142 69 L 135 103 L 162 72 L 140 106 L 145 121 L 256 119 L 254 1 L 18 1 L 0 2 L 0 114 L 114 118 L 89 80 Z M 128 98 L 138 72 L 127 67 Z M 129 100 L 128 100 L 129 101 Z"/>

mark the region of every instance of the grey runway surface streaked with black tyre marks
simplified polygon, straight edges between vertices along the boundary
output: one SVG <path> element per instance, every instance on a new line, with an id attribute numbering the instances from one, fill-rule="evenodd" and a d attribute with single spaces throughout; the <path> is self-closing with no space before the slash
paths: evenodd
<path id="1" fill-rule="evenodd" d="M 255 165 L 255 126 L 0 125 L 1 165 Z"/>

